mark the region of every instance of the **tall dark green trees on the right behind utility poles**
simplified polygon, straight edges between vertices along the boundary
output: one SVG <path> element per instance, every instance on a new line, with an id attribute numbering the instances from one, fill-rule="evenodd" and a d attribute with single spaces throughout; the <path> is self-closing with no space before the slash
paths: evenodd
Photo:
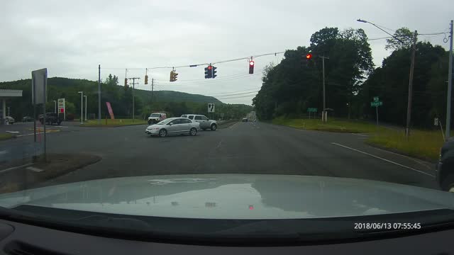
<path id="1" fill-rule="evenodd" d="M 287 50 L 279 64 L 268 65 L 263 85 L 253 98 L 258 118 L 306 117 L 307 108 L 323 109 L 322 59 L 325 60 L 326 108 L 331 117 L 375 120 L 375 96 L 380 121 L 404 125 L 409 92 L 411 38 L 408 28 L 400 28 L 387 40 L 391 55 L 381 67 L 374 67 L 368 38 L 362 29 L 323 28 L 311 35 L 309 47 Z M 313 58 L 306 60 L 311 52 Z M 445 119 L 448 52 L 430 42 L 416 43 L 411 125 L 428 128 L 433 118 Z"/>

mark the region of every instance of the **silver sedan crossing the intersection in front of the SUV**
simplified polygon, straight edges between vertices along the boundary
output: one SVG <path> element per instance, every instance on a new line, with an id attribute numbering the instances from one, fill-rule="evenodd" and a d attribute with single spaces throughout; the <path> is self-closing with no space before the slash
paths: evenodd
<path id="1" fill-rule="evenodd" d="M 165 137 L 167 135 L 197 135 L 200 124 L 188 118 L 167 118 L 160 123 L 150 125 L 145 129 L 147 135 L 158 135 Z"/>

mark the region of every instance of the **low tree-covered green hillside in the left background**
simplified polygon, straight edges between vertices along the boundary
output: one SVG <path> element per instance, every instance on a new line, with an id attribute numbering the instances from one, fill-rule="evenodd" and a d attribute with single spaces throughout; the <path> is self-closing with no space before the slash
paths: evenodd
<path id="1" fill-rule="evenodd" d="M 118 82 L 112 82 L 112 79 L 110 81 L 106 79 L 101 83 L 101 116 L 108 115 L 106 102 L 109 102 L 116 118 L 132 118 L 132 89 L 115 84 Z M 21 89 L 23 91 L 22 98 L 9 98 L 6 101 L 7 106 L 11 108 L 12 117 L 19 119 L 26 115 L 33 115 L 31 79 L 0 82 L 0 89 Z M 87 79 L 49 78 L 47 111 L 54 111 L 53 101 L 56 101 L 57 98 L 65 98 L 67 114 L 78 118 L 81 108 L 79 91 L 83 91 L 84 96 L 87 96 L 87 115 L 94 118 L 98 113 L 98 82 Z M 166 112 L 169 116 L 179 116 L 184 113 L 206 115 L 206 103 L 216 104 L 216 115 L 211 115 L 212 118 L 217 118 L 218 113 L 224 113 L 229 118 L 240 118 L 253 111 L 252 106 L 226 104 L 212 96 L 178 91 L 153 91 L 153 103 L 151 91 L 135 89 L 134 95 L 135 116 L 140 116 L 140 118 L 145 118 L 146 115 L 156 111 Z"/>

